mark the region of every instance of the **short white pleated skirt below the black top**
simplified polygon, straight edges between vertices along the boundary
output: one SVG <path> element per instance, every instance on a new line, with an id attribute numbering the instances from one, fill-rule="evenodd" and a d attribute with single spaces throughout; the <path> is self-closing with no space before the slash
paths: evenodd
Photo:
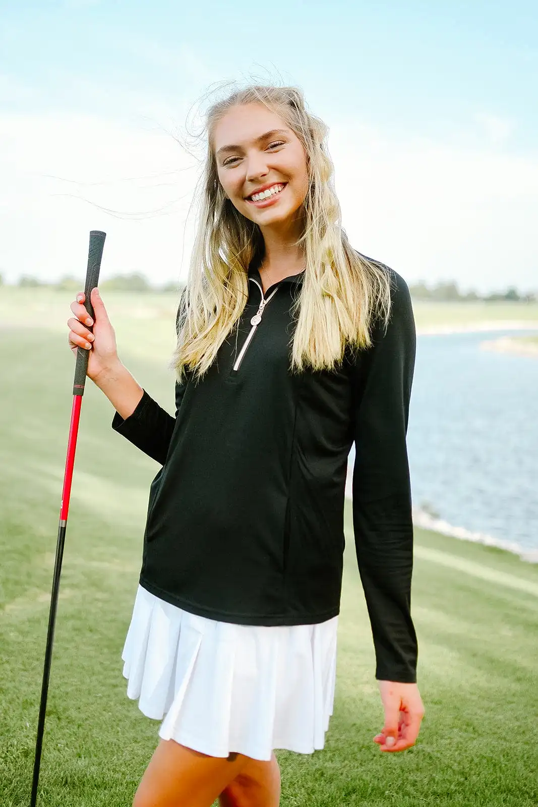
<path id="1" fill-rule="evenodd" d="M 312 754 L 332 715 L 337 625 L 236 625 L 139 586 L 122 654 L 127 696 L 164 718 L 161 738 L 203 754 Z"/>

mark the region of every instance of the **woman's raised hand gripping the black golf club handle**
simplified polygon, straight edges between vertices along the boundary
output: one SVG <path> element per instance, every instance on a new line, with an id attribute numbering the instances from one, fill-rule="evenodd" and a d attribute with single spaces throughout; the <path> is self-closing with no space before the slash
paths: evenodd
<path id="1" fill-rule="evenodd" d="M 86 375 L 92 381 L 95 381 L 103 370 L 111 370 L 118 364 L 118 350 L 116 348 L 115 330 L 112 328 L 111 320 L 108 319 L 108 314 L 97 286 L 90 293 L 90 302 L 94 307 L 94 323 L 89 319 L 90 315 L 84 307 L 84 300 L 84 291 L 79 291 L 77 299 L 71 303 L 71 311 L 75 316 L 67 320 L 70 328 L 68 341 L 75 357 L 79 347 L 89 350 Z M 93 332 L 89 328 L 92 328 Z"/>

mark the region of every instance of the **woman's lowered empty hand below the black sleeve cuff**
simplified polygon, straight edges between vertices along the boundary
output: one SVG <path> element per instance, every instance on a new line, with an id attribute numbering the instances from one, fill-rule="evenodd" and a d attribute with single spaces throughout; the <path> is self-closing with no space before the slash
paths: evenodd
<path id="1" fill-rule="evenodd" d="M 385 725 L 373 742 L 377 742 L 381 751 L 404 751 L 415 745 L 424 717 L 419 688 L 398 681 L 377 681 L 377 684 L 385 709 Z"/>

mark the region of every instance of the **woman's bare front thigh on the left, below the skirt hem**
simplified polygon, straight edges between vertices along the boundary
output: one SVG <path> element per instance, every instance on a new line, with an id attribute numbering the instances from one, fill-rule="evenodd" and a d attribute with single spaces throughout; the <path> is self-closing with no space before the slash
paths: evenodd
<path id="1" fill-rule="evenodd" d="M 161 740 L 136 791 L 133 807 L 211 807 L 249 757 L 213 757 Z"/>

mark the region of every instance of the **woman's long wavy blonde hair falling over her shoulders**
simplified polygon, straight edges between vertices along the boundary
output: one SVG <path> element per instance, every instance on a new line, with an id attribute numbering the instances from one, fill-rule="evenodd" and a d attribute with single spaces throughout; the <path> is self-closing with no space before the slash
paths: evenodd
<path id="1" fill-rule="evenodd" d="M 390 274 L 386 266 L 357 253 L 341 226 L 334 188 L 334 166 L 327 153 L 328 128 L 305 108 L 296 87 L 250 85 L 213 103 L 206 113 L 206 160 L 195 197 L 198 226 L 186 286 L 177 314 L 177 346 L 170 369 L 182 382 L 189 370 L 208 370 L 227 335 L 240 320 L 248 299 L 248 267 L 263 256 L 257 224 L 233 206 L 219 182 L 214 132 L 231 107 L 264 103 L 301 140 L 309 188 L 303 202 L 304 228 L 297 241 L 305 255 L 302 287 L 291 312 L 297 324 L 290 371 L 331 370 L 344 358 L 372 344 L 373 318 L 390 316 Z M 295 315 L 297 315 L 296 317 Z"/>

